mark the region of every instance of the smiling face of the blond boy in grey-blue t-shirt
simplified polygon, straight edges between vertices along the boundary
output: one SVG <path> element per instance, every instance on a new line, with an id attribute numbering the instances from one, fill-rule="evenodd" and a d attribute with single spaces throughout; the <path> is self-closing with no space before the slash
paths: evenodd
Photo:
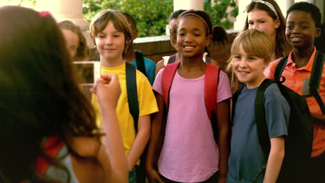
<path id="1" fill-rule="evenodd" d="M 263 71 L 268 65 L 268 62 L 263 58 L 258 58 L 254 55 L 248 55 L 242 45 L 238 48 L 238 53 L 233 55 L 233 73 L 237 76 L 240 82 L 246 83 L 248 88 L 255 88 L 260 85 L 265 76 Z"/>

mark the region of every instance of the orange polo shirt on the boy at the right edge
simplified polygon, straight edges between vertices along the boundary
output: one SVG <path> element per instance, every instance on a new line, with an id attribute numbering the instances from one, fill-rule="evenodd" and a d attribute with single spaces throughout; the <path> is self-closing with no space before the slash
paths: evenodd
<path id="1" fill-rule="evenodd" d="M 299 69 L 296 68 L 296 63 L 292 61 L 293 51 L 290 52 L 288 62 L 283 69 L 281 76 L 285 77 L 285 82 L 283 85 L 289 87 L 294 92 L 302 95 L 303 79 L 310 78 L 311 71 L 313 69 L 313 64 L 315 60 L 316 48 L 314 46 L 313 54 L 310 57 L 308 64 L 305 67 Z M 276 64 L 280 62 L 281 58 L 274 60 L 270 64 L 269 76 L 268 78 L 274 79 L 274 71 Z M 319 96 L 322 98 L 323 103 L 325 103 L 325 64 L 322 70 L 322 78 L 319 84 Z M 322 114 L 317 101 L 313 96 L 305 96 L 308 103 L 310 112 L 315 114 Z M 314 137 L 313 137 L 313 151 L 312 157 L 322 155 L 325 150 L 325 125 L 314 124 Z"/>

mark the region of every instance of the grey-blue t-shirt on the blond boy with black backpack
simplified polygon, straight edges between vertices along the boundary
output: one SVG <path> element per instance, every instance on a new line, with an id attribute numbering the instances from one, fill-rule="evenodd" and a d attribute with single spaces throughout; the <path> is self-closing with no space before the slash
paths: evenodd
<path id="1" fill-rule="evenodd" d="M 260 168 L 266 165 L 255 119 L 257 91 L 258 87 L 248 89 L 245 85 L 235 105 L 228 183 L 252 182 Z M 286 136 L 290 107 L 275 83 L 265 90 L 264 103 L 269 138 Z M 264 176 L 265 172 L 258 177 L 257 182 L 263 182 Z"/>

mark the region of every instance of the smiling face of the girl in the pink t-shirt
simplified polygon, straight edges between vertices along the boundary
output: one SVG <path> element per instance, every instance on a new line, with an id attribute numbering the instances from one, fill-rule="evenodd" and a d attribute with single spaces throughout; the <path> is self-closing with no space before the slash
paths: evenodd
<path id="1" fill-rule="evenodd" d="M 178 21 L 177 48 L 185 58 L 198 57 L 202 59 L 204 48 L 210 42 L 206 36 L 206 25 L 199 17 L 187 15 Z"/>

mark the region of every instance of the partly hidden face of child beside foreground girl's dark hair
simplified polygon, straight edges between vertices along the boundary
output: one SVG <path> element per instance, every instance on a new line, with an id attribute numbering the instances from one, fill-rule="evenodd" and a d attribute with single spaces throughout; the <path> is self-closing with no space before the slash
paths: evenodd
<path id="1" fill-rule="evenodd" d="M 67 46 L 67 50 L 69 51 L 69 55 L 71 58 L 74 58 L 79 46 L 79 37 L 76 33 L 67 29 L 62 29 L 62 33 L 65 37 L 65 44 Z"/>

